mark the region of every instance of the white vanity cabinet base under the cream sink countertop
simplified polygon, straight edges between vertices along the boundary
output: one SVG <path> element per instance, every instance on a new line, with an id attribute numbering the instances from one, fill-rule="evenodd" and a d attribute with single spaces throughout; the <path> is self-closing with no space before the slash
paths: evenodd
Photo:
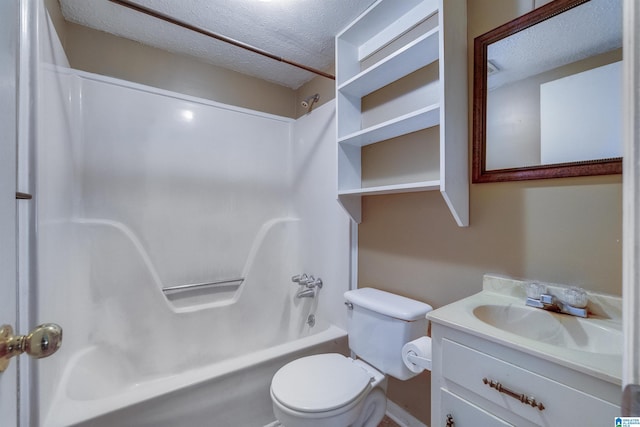
<path id="1" fill-rule="evenodd" d="M 434 427 L 606 426 L 620 416 L 619 384 L 434 319 L 432 340 Z"/>

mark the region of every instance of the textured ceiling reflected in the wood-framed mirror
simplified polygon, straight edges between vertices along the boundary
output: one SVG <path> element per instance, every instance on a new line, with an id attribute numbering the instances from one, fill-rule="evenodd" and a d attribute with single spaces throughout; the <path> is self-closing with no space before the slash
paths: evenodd
<path id="1" fill-rule="evenodd" d="M 622 0 L 591 0 L 489 46 L 489 88 L 622 47 Z"/>

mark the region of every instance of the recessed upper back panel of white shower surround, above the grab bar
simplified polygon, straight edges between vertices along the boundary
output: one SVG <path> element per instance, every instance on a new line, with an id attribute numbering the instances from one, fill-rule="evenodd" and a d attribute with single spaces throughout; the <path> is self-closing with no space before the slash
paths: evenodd
<path id="1" fill-rule="evenodd" d="M 140 240 L 163 286 L 242 277 L 290 216 L 290 122 L 82 80 L 84 217 Z"/>

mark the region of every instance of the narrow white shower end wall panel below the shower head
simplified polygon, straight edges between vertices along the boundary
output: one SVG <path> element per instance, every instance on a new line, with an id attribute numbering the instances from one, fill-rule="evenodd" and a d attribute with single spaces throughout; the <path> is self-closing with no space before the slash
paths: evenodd
<path id="1" fill-rule="evenodd" d="M 325 283 L 315 301 L 316 318 L 346 329 L 342 295 L 349 289 L 351 220 L 336 200 L 335 101 L 296 120 L 293 141 L 292 197 L 302 222 L 301 263 Z"/>

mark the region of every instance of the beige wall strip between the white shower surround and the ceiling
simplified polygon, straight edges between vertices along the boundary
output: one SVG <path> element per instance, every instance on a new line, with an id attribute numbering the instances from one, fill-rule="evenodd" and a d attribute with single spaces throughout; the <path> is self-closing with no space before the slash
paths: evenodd
<path id="1" fill-rule="evenodd" d="M 45 0 L 73 68 L 225 104 L 296 117 L 296 91 L 255 77 L 64 21 Z"/>

